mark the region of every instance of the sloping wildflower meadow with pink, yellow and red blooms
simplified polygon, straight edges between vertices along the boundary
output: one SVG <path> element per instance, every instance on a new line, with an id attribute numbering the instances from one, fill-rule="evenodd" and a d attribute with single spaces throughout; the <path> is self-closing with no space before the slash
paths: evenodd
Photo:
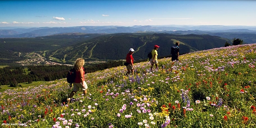
<path id="1" fill-rule="evenodd" d="M 182 48 L 181 48 L 182 50 Z M 134 53 L 136 54 L 136 52 Z M 125 56 L 124 56 L 125 57 Z M 256 128 L 256 44 L 197 51 L 0 93 L 1 128 Z"/>

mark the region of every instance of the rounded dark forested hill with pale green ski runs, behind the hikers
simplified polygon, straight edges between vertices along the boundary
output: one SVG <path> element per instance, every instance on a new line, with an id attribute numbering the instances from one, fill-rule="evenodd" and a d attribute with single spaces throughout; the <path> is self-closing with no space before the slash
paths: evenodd
<path id="1" fill-rule="evenodd" d="M 82 57 L 86 61 L 120 60 L 125 59 L 130 48 L 136 60 L 146 59 L 148 52 L 154 45 L 160 46 L 158 56 L 168 56 L 171 46 L 180 41 L 180 54 L 197 50 L 223 47 L 228 39 L 210 35 L 172 35 L 164 33 L 119 33 L 103 35 L 89 41 L 77 43 L 73 46 L 50 50 L 47 57 L 54 57 L 61 61 L 74 61 Z"/>

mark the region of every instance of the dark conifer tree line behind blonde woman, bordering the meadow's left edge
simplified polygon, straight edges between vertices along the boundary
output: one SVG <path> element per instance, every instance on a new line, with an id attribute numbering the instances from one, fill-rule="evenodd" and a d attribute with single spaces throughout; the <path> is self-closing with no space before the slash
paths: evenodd
<path id="1" fill-rule="evenodd" d="M 85 72 L 91 73 L 111 67 L 123 65 L 124 61 L 108 61 L 106 63 L 97 63 L 84 65 Z M 27 68 L 28 74 L 25 69 Z M 67 65 L 37 65 L 37 66 L 8 66 L 0 68 L 0 85 L 19 86 L 18 83 L 32 83 L 33 81 L 52 81 L 67 77 L 67 72 L 72 69 Z"/>

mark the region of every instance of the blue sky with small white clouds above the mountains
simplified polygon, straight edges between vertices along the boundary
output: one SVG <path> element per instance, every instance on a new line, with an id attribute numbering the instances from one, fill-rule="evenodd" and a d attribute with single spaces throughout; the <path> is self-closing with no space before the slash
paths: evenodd
<path id="1" fill-rule="evenodd" d="M 0 0 L 0 27 L 256 26 L 256 0 Z"/>

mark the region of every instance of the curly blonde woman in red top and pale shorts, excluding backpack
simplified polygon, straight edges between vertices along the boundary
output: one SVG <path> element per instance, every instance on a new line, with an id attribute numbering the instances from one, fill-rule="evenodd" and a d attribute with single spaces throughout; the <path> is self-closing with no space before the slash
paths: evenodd
<path id="1" fill-rule="evenodd" d="M 70 99 L 75 95 L 77 91 L 81 88 L 84 92 L 84 94 L 87 94 L 87 83 L 85 82 L 85 60 L 82 58 L 76 59 L 76 62 L 74 63 L 74 69 L 76 69 L 76 78 L 73 82 L 73 91 L 68 96 L 68 103 L 70 102 Z"/>

